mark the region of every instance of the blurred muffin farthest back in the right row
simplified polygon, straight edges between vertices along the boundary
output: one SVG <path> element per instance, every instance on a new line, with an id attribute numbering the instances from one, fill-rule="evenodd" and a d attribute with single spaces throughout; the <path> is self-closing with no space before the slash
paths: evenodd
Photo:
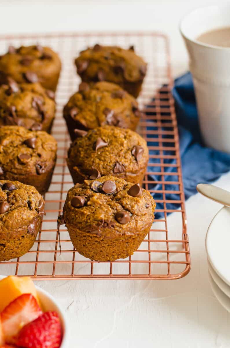
<path id="1" fill-rule="evenodd" d="M 109 81 L 120 85 L 138 97 L 147 70 L 147 63 L 136 55 L 134 47 L 117 46 L 87 48 L 75 59 L 77 73 L 82 81 Z"/>

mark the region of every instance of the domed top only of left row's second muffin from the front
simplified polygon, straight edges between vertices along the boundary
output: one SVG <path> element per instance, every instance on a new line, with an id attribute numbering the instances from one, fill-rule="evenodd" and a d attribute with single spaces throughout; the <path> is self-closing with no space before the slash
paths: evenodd
<path id="1" fill-rule="evenodd" d="M 57 143 L 43 131 L 19 126 L 0 127 L 0 176 L 4 172 L 42 174 L 53 166 Z"/>

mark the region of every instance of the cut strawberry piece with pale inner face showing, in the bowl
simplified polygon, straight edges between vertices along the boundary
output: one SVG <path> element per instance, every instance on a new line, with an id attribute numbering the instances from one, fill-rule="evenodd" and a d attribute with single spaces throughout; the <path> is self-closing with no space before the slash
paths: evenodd
<path id="1" fill-rule="evenodd" d="M 15 336 L 22 327 L 42 314 L 31 294 L 23 294 L 10 302 L 1 313 L 2 329 L 7 343 L 15 343 Z"/>

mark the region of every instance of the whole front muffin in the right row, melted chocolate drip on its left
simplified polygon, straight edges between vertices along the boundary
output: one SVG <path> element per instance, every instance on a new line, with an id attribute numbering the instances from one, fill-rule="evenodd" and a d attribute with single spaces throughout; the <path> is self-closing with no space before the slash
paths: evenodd
<path id="1" fill-rule="evenodd" d="M 138 249 L 154 220 L 150 193 L 114 176 L 85 180 L 68 191 L 63 216 L 75 249 L 95 261 L 125 259 Z"/>

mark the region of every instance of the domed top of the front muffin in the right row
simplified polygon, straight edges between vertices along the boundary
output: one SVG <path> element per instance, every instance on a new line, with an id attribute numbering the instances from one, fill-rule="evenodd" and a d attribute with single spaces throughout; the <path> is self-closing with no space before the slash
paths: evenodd
<path id="1" fill-rule="evenodd" d="M 135 235 L 151 227 L 156 204 L 150 193 L 114 176 L 85 180 L 68 191 L 63 220 L 104 238 Z"/>

